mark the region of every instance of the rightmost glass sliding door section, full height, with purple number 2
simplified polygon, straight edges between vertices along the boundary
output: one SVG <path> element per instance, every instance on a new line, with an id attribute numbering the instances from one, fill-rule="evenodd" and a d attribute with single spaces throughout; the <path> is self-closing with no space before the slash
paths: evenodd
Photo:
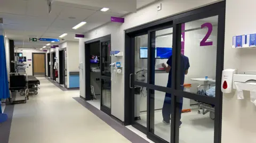
<path id="1" fill-rule="evenodd" d="M 214 98 L 219 98 L 221 63 L 217 63 L 219 16 L 182 22 L 177 25 L 177 39 L 175 63 L 180 77 L 185 75 L 185 89 L 183 79 L 176 80 L 176 100 L 173 108 L 175 124 L 179 128 L 179 142 L 214 142 L 215 106 Z M 181 55 L 178 53 L 181 52 Z M 205 68 L 202 68 L 205 67 Z M 179 75 L 178 75 L 179 76 Z M 218 93 L 218 94 L 217 94 Z M 179 98 L 179 99 L 178 99 Z M 183 105 L 183 106 L 182 106 Z M 197 108 L 195 108 L 195 106 Z M 189 111 L 182 113 L 182 111 Z M 219 114 L 219 113 L 217 113 Z M 187 131 L 191 134 L 188 136 Z M 198 133 L 204 133 L 202 134 Z"/>

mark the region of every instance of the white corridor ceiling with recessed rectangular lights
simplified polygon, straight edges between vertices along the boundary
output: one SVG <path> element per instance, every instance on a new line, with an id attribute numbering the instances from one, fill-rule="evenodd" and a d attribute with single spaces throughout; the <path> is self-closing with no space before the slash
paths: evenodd
<path id="1" fill-rule="evenodd" d="M 101 1 L 111 3 L 117 0 Z M 154 1 L 157 0 L 137 0 L 137 9 Z M 78 41 L 74 39 L 76 33 L 84 33 L 99 27 L 109 22 L 111 16 L 129 13 L 116 9 L 101 12 L 101 9 L 102 6 L 53 1 L 52 12 L 49 14 L 46 0 L 1 0 L 0 18 L 3 18 L 3 29 L 7 38 L 14 40 L 15 47 L 42 48 L 47 42 L 29 42 L 29 37 L 59 38 L 62 33 L 68 33 L 63 37 L 65 40 Z M 71 29 L 82 21 L 87 22 L 85 26 L 77 30 Z M 58 43 L 54 43 L 56 44 Z"/>

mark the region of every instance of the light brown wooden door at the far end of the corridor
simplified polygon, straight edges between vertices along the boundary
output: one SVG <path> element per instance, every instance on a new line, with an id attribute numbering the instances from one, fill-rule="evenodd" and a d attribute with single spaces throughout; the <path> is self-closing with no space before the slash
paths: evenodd
<path id="1" fill-rule="evenodd" d="M 35 77 L 45 77 L 46 76 L 46 61 L 45 53 L 32 53 L 33 61 L 33 75 Z"/>

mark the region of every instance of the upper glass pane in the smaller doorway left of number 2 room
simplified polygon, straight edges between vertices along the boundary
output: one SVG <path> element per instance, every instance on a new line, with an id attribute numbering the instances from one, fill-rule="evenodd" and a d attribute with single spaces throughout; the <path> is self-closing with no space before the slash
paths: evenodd
<path id="1" fill-rule="evenodd" d="M 101 63 L 102 63 L 102 75 L 111 77 L 110 73 L 110 64 L 111 64 L 111 57 L 110 57 L 110 51 L 111 51 L 111 45 L 110 41 L 106 41 L 101 43 Z"/>

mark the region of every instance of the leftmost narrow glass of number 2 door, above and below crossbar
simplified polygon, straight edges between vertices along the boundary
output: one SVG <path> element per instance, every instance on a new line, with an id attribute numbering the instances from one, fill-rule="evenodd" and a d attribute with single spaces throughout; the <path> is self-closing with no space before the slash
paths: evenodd
<path id="1" fill-rule="evenodd" d="M 135 81 L 147 82 L 148 35 L 135 37 L 134 73 Z M 134 120 L 147 127 L 147 90 L 145 87 L 134 87 Z"/>

